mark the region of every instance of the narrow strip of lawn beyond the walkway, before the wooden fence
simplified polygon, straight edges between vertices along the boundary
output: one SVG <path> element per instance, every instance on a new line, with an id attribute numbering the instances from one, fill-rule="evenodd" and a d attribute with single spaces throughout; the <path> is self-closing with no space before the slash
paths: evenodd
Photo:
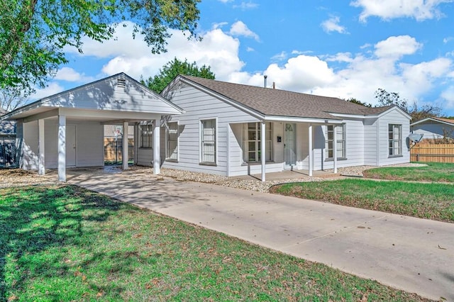
<path id="1" fill-rule="evenodd" d="M 442 162 L 423 162 L 422 164 L 427 166 L 374 168 L 366 170 L 363 174 L 372 179 L 454 183 L 454 164 Z"/>

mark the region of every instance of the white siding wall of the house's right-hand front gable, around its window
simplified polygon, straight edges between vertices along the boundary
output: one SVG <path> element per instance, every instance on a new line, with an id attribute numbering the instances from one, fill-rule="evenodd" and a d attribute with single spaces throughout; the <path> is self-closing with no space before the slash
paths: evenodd
<path id="1" fill-rule="evenodd" d="M 399 124 L 402 125 L 402 156 L 389 156 L 389 138 L 388 138 L 388 125 Z M 377 166 L 384 166 L 387 164 L 402 164 L 410 162 L 410 150 L 406 145 L 406 138 L 410 133 L 410 121 L 405 118 L 402 113 L 397 110 L 389 111 L 388 113 L 380 116 L 377 123 L 377 140 L 378 140 L 378 162 Z"/>

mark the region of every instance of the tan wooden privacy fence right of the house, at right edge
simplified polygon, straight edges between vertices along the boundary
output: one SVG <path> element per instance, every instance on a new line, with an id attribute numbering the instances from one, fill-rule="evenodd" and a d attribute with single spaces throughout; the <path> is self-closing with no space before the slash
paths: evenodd
<path id="1" fill-rule="evenodd" d="M 411 162 L 454 162 L 454 144 L 417 143 L 410 150 Z"/>

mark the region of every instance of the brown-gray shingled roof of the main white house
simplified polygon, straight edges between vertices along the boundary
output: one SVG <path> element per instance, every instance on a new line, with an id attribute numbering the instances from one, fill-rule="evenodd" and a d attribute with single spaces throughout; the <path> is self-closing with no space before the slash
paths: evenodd
<path id="1" fill-rule="evenodd" d="M 329 113 L 354 115 L 379 114 L 392 106 L 367 108 L 343 99 L 315 96 L 279 89 L 262 88 L 243 84 L 220 82 L 200 77 L 181 76 L 206 89 L 221 94 L 231 101 L 246 106 L 265 116 L 287 116 L 295 118 L 335 118 Z"/>

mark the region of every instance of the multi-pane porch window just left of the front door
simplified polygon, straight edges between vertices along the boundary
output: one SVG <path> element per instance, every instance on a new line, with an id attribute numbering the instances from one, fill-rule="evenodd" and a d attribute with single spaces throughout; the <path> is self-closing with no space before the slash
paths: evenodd
<path id="1" fill-rule="evenodd" d="M 247 123 L 243 125 L 243 152 L 245 162 L 260 162 L 261 133 L 260 123 Z M 272 160 L 272 123 L 265 123 L 265 160 Z"/>

